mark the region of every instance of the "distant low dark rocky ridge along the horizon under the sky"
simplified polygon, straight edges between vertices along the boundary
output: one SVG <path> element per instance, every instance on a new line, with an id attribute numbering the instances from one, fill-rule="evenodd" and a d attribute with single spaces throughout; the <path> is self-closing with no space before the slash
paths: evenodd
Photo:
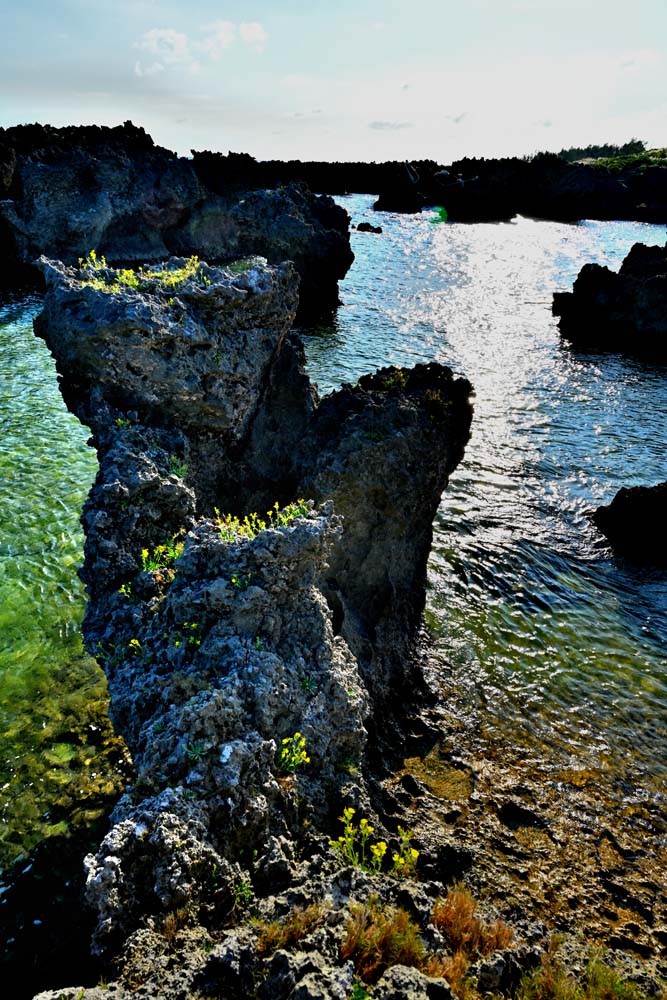
<path id="1" fill-rule="evenodd" d="M 515 215 L 557 221 L 636 219 L 667 221 L 667 166 L 622 169 L 568 163 L 555 153 L 532 158 L 465 157 L 451 164 L 434 160 L 386 163 L 325 163 L 299 160 L 260 162 L 243 153 L 195 153 L 200 176 L 253 177 L 260 186 L 304 181 L 329 194 L 364 192 L 378 196 L 375 208 L 419 212 L 444 206 L 452 222 L 502 221 Z"/>

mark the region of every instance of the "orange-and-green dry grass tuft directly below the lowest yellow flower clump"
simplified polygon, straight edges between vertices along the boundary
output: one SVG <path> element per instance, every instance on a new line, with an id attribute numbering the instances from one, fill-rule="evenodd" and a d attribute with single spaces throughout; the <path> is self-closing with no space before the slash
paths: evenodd
<path id="1" fill-rule="evenodd" d="M 341 958 L 351 959 L 357 975 L 375 983 L 391 965 L 421 967 L 425 959 L 419 928 L 405 910 L 369 900 L 353 904 L 341 946 Z"/>

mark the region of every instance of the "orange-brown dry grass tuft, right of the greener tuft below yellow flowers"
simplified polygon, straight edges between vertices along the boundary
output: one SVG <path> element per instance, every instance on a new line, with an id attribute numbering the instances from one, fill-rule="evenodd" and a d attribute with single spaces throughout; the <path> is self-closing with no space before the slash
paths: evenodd
<path id="1" fill-rule="evenodd" d="M 444 899 L 436 901 L 431 923 L 440 931 L 454 954 L 462 952 L 469 958 L 490 955 L 512 944 L 512 928 L 502 920 L 486 923 L 478 917 L 476 901 L 458 883 L 449 889 Z"/>

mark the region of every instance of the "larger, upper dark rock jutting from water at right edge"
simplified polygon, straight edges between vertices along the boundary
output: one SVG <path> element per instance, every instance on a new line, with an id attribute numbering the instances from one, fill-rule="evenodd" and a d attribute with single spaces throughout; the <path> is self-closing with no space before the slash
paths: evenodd
<path id="1" fill-rule="evenodd" d="M 585 264 L 554 315 L 577 347 L 621 351 L 667 363 L 667 250 L 635 243 L 616 274 Z"/>

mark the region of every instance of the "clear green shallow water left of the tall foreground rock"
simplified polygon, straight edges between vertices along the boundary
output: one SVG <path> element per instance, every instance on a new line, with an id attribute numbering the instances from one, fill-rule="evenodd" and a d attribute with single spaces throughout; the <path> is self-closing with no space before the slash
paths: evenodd
<path id="1" fill-rule="evenodd" d="M 97 463 L 32 332 L 39 307 L 0 302 L 0 867 L 92 818 L 91 786 L 109 784 L 106 685 L 81 643 L 76 575 Z"/>

